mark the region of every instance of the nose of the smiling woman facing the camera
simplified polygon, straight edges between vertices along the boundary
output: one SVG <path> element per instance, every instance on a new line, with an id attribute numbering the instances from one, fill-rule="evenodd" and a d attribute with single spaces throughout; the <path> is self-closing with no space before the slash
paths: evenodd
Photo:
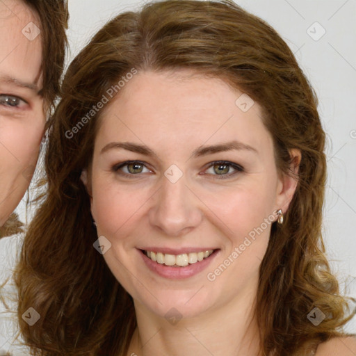
<path id="1" fill-rule="evenodd" d="M 167 236 L 182 236 L 200 225 L 199 199 L 186 186 L 184 177 L 172 183 L 163 177 L 149 210 L 149 223 Z"/>

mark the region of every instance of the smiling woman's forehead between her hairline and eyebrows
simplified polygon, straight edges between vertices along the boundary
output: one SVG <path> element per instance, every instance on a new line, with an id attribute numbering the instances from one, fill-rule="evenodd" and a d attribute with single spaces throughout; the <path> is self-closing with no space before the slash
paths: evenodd
<path id="1" fill-rule="evenodd" d="M 221 79 L 193 72 L 138 72 L 102 113 L 97 146 L 132 140 L 157 149 L 193 149 L 205 141 L 240 140 L 263 151 L 272 140 L 261 108 L 254 103 L 241 111 L 236 100 L 242 94 Z"/>

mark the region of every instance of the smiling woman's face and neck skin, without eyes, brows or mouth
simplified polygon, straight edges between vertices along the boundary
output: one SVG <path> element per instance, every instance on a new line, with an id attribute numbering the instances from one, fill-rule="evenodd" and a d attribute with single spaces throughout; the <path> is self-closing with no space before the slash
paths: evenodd
<path id="1" fill-rule="evenodd" d="M 82 179 L 98 236 L 111 243 L 104 259 L 133 297 L 138 327 L 127 355 L 258 355 L 254 298 L 270 225 L 216 280 L 207 280 L 207 273 L 265 218 L 288 209 L 297 181 L 277 171 L 259 105 L 244 113 L 235 104 L 241 92 L 220 79 L 192 74 L 134 76 L 104 108 L 92 164 Z M 202 146 L 232 140 L 256 152 L 193 156 Z M 154 154 L 107 148 L 127 142 Z M 291 169 L 298 172 L 300 152 L 292 150 L 291 156 Z M 136 160 L 145 164 L 139 172 L 121 166 Z M 230 166 L 229 177 L 221 179 L 210 166 L 215 161 L 236 163 L 243 171 Z M 175 183 L 164 175 L 172 164 L 183 173 Z M 138 250 L 147 246 L 219 250 L 202 272 L 173 280 L 147 268 Z M 165 318 L 172 308 L 182 317 L 175 325 Z"/>

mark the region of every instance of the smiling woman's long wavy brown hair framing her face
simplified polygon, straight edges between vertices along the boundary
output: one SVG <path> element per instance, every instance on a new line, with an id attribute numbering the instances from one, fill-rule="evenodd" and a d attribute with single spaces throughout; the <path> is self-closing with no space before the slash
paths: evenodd
<path id="1" fill-rule="evenodd" d="M 19 323 L 33 354 L 127 353 L 136 327 L 133 301 L 92 247 L 97 233 L 80 178 L 92 160 L 102 111 L 72 138 L 67 132 L 133 68 L 189 68 L 250 95 L 263 108 L 281 173 L 290 174 L 289 150 L 300 149 L 296 193 L 285 223 L 273 224 L 260 268 L 261 353 L 306 355 L 340 335 L 350 316 L 321 237 L 325 133 L 314 91 L 286 43 L 258 17 L 228 0 L 172 0 L 115 17 L 65 76 L 45 162 L 48 192 L 26 234 L 15 275 Z M 31 327 L 21 318 L 29 307 L 41 316 Z M 327 316 L 318 327 L 307 319 L 314 307 Z"/>

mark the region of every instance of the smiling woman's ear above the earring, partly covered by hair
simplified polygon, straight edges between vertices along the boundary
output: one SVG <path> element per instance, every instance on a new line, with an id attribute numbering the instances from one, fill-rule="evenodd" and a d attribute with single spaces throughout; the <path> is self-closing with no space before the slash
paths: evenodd
<path id="1" fill-rule="evenodd" d="M 291 156 L 291 165 L 289 167 L 291 174 L 281 173 L 277 184 L 276 210 L 282 209 L 283 213 L 288 210 L 289 204 L 291 204 L 293 195 L 296 192 L 299 165 L 302 160 L 300 149 L 291 149 L 289 154 Z"/>

